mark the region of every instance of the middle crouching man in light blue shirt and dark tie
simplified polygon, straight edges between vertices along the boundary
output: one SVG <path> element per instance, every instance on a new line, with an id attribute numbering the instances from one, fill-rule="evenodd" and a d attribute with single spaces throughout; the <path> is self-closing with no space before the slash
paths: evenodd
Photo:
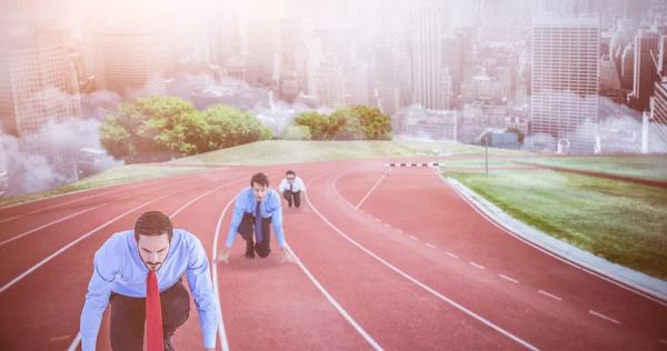
<path id="1" fill-rule="evenodd" d="M 276 190 L 269 188 L 269 179 L 266 174 L 257 173 L 250 179 L 250 187 L 237 195 L 231 225 L 227 233 L 227 244 L 218 260 L 229 263 L 229 249 L 237 233 L 246 240 L 247 258 L 253 259 L 255 252 L 260 258 L 267 258 L 271 253 L 271 223 L 276 231 L 278 247 L 282 251 L 281 263 L 293 262 L 285 243 L 280 195 Z M 257 243 L 255 243 L 253 235 Z"/>

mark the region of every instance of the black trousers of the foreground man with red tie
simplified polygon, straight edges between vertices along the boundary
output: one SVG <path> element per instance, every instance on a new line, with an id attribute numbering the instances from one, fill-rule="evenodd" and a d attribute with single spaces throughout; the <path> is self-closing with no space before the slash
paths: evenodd
<path id="1" fill-rule="evenodd" d="M 115 351 L 143 350 L 146 299 L 130 298 L 111 292 L 110 338 Z M 190 315 L 190 295 L 179 280 L 160 293 L 162 305 L 162 333 L 171 338 Z"/>

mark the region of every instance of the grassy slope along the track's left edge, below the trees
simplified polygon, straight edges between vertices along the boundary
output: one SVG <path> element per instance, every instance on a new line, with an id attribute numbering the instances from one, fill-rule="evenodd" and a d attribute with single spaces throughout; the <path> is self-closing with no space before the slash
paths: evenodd
<path id="1" fill-rule="evenodd" d="M 22 197 L 13 197 L 8 199 L 0 199 L 0 208 L 26 201 L 38 200 L 42 198 L 59 195 L 68 192 L 74 192 L 86 189 L 100 188 L 113 184 L 127 183 L 136 180 L 145 180 L 168 176 L 198 173 L 203 171 L 210 171 L 208 168 L 182 168 L 182 167 L 151 167 L 143 164 L 131 164 L 118 168 L 109 169 L 104 172 L 94 174 L 89 178 L 84 178 L 78 182 L 60 187 L 58 189 L 36 192 Z"/>

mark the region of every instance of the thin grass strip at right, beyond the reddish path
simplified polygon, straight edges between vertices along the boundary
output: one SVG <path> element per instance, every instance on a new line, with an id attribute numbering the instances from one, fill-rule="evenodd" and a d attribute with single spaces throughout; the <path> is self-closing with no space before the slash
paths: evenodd
<path id="1" fill-rule="evenodd" d="M 651 180 L 667 180 L 666 157 L 538 158 L 521 161 Z"/>

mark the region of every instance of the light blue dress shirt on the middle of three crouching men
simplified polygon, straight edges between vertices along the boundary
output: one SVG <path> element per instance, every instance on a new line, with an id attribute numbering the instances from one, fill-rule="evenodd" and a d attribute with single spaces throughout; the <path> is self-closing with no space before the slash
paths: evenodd
<path id="1" fill-rule="evenodd" d="M 282 200 L 278 192 L 273 189 L 269 189 L 267 192 L 267 197 L 261 201 L 259 205 L 261 217 L 269 218 L 271 217 L 273 223 L 273 231 L 276 232 L 276 238 L 278 239 L 278 245 L 280 249 L 285 248 L 285 233 L 282 232 Z M 237 197 L 236 202 L 233 204 L 233 217 L 231 218 L 231 225 L 229 227 L 229 232 L 227 233 L 227 247 L 231 248 L 233 240 L 237 235 L 237 230 L 239 229 L 239 224 L 241 224 L 241 220 L 243 219 L 243 213 L 251 213 L 257 217 L 257 199 L 252 193 L 252 188 L 248 187 L 243 189 Z M 263 235 L 269 235 L 269 233 L 263 233 Z"/>

